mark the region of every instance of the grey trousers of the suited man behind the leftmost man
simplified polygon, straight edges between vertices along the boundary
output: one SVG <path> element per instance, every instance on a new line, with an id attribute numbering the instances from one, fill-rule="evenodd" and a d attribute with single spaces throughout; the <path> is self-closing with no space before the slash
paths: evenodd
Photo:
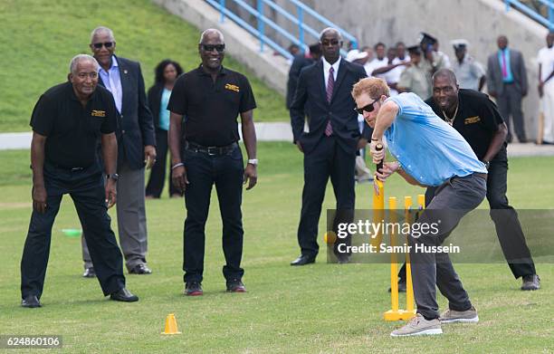
<path id="1" fill-rule="evenodd" d="M 148 234 L 144 205 L 144 167 L 130 169 L 125 161 L 121 161 L 118 174 L 116 209 L 119 244 L 125 256 L 125 265 L 130 271 L 140 263 L 147 263 Z M 91 255 L 83 236 L 81 236 L 81 245 L 84 267 L 90 268 Z"/>

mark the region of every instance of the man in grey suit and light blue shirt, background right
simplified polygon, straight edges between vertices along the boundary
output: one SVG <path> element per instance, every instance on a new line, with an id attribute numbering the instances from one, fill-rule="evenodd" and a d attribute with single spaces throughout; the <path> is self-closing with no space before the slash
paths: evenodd
<path id="1" fill-rule="evenodd" d="M 521 52 L 508 48 L 508 38 L 501 35 L 497 40 L 498 51 L 489 56 L 487 86 L 489 94 L 496 99 L 498 110 L 508 126 L 508 142 L 511 142 L 510 119 L 520 142 L 526 142 L 521 100 L 527 95 L 527 71 Z"/>

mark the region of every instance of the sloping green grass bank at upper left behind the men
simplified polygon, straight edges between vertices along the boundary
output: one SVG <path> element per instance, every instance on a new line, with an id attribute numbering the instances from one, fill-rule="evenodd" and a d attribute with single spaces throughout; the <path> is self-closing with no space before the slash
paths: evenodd
<path id="1" fill-rule="evenodd" d="M 186 71 L 200 62 L 200 31 L 148 0 L 2 0 L 0 23 L 0 132 L 29 130 L 34 103 L 43 91 L 66 80 L 75 54 L 90 53 L 96 26 L 109 26 L 116 53 L 141 63 L 147 89 L 162 59 L 172 58 Z M 230 56 L 224 64 L 252 82 L 255 120 L 288 120 L 280 94 Z"/>

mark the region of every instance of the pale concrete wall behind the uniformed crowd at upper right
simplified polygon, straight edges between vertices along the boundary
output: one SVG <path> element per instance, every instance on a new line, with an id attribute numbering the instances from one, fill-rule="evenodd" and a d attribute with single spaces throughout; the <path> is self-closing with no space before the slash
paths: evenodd
<path id="1" fill-rule="evenodd" d="M 545 45 L 548 31 L 516 10 L 506 13 L 501 0 L 303 0 L 303 3 L 354 34 L 362 45 L 416 43 L 420 32 L 432 33 L 451 60 L 454 51 L 450 40 L 465 38 L 471 44 L 469 52 L 486 65 L 487 57 L 497 50 L 497 36 L 507 35 L 510 46 L 521 51 L 526 61 L 530 90 L 523 100 L 525 128 L 528 139 L 536 137 L 539 114 L 536 55 Z M 295 33 L 296 28 L 290 23 L 280 23 Z"/>

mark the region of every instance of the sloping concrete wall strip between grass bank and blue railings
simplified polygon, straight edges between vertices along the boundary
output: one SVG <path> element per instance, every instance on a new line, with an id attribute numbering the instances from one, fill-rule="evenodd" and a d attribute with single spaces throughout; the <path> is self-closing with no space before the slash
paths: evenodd
<path id="1" fill-rule="evenodd" d="M 217 28 L 224 33 L 227 53 L 234 59 L 242 62 L 257 77 L 263 80 L 274 90 L 285 94 L 289 65 L 279 55 L 265 46 L 260 53 L 260 43 L 233 21 L 227 19 L 219 23 L 219 13 L 202 0 L 153 0 L 172 14 L 183 18 L 186 22 L 195 25 L 199 31 L 207 28 Z"/>

